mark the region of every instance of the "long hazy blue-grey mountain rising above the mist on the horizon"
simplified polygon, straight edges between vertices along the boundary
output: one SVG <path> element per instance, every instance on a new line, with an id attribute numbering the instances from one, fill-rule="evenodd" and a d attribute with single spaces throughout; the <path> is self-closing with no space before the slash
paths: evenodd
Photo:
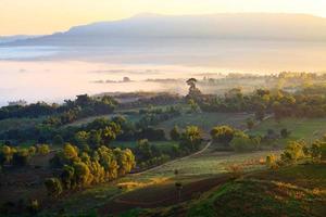
<path id="1" fill-rule="evenodd" d="M 326 18 L 305 14 L 212 14 L 130 18 L 72 27 L 12 46 L 104 46 L 177 39 L 326 41 Z"/>

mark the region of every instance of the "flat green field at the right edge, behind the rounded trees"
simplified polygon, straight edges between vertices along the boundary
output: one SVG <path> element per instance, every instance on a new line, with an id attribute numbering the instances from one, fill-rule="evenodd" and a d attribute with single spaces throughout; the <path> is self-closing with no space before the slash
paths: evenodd
<path id="1" fill-rule="evenodd" d="M 326 118 L 285 118 L 279 122 L 269 118 L 250 130 L 249 133 L 264 136 L 268 129 L 279 133 L 283 128 L 291 131 L 290 140 L 304 139 L 311 142 L 326 133 Z"/>

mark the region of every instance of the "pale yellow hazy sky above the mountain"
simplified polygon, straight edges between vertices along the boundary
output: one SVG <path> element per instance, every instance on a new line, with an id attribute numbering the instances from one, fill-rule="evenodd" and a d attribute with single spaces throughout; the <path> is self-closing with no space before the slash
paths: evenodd
<path id="1" fill-rule="evenodd" d="M 326 17 L 326 0 L 0 0 L 0 35 L 51 34 L 145 12 L 279 12 Z"/>

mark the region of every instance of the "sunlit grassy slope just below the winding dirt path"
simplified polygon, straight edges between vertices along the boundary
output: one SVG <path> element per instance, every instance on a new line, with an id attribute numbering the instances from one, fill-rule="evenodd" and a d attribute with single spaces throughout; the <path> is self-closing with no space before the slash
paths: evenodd
<path id="1" fill-rule="evenodd" d="M 210 179 L 225 174 L 227 166 L 234 163 L 242 164 L 246 170 L 260 169 L 264 166 L 259 164 L 259 159 L 267 153 L 221 154 L 208 151 L 208 153 L 200 156 L 175 162 L 139 176 L 127 176 L 111 183 L 93 187 L 71 196 L 64 196 L 50 210 L 64 208 L 68 214 L 88 213 L 89 210 L 100 209 L 105 205 L 110 207 L 112 199 L 116 196 L 122 200 L 136 199 L 135 201 L 147 201 L 148 195 L 151 194 L 158 201 L 164 200 L 166 191 L 175 191 L 175 181 L 190 184 L 202 179 Z M 179 169 L 177 177 L 174 175 L 174 169 L 176 168 Z M 129 184 L 131 187 L 120 189 L 120 184 Z M 152 202 L 155 202 L 155 200 L 152 200 Z M 123 210 L 128 208 L 130 207 L 126 206 L 126 209 Z"/>

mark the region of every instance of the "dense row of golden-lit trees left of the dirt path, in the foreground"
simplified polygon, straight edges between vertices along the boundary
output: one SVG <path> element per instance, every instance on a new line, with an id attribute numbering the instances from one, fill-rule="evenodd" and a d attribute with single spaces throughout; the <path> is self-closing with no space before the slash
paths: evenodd
<path id="1" fill-rule="evenodd" d="M 124 176 L 136 166 L 136 161 L 129 149 L 110 149 L 102 145 L 85 152 L 66 143 L 51 159 L 51 166 L 59 169 L 60 175 L 47 179 L 45 184 L 51 196 L 58 196 L 63 191 L 85 188 Z"/>

